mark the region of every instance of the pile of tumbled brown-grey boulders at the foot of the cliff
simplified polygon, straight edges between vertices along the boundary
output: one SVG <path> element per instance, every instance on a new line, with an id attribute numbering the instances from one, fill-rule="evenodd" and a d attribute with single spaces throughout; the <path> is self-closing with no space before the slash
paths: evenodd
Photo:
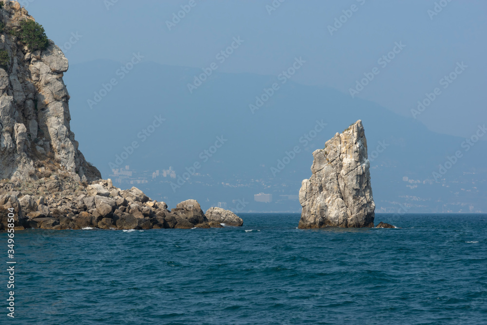
<path id="1" fill-rule="evenodd" d="M 222 227 L 208 222 L 196 200 L 183 201 L 171 211 L 166 203 L 150 199 L 139 189 L 122 191 L 111 180 L 99 180 L 86 188 L 71 178 L 42 178 L 30 184 L 0 182 L 0 229 L 7 229 L 9 213 L 14 215 L 16 229 Z"/>

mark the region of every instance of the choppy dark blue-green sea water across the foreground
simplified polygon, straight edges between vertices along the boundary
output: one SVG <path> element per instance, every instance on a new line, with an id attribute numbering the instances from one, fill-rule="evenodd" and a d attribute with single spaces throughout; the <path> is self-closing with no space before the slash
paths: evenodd
<path id="1" fill-rule="evenodd" d="M 239 228 L 18 231 L 16 318 L 2 285 L 0 323 L 487 324 L 486 214 L 308 230 L 299 214 L 241 216 Z"/>

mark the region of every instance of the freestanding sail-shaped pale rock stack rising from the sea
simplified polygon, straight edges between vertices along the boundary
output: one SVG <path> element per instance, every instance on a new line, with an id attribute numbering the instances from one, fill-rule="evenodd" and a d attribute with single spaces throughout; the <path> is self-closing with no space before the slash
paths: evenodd
<path id="1" fill-rule="evenodd" d="M 302 181 L 299 228 L 374 227 L 375 204 L 367 140 L 358 120 L 313 153 L 311 178 Z"/>

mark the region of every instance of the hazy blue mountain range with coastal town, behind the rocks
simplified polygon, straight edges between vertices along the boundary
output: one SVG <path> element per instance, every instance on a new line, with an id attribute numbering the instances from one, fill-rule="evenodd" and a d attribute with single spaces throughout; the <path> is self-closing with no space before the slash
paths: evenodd
<path id="1" fill-rule="evenodd" d="M 110 60 L 70 66 L 64 81 L 79 149 L 104 178 L 121 188 L 136 186 L 169 208 L 194 198 L 204 209 L 221 202 L 239 211 L 300 211 L 297 195 L 311 175 L 311 153 L 361 119 L 377 212 L 487 210 L 486 141 L 468 144 L 433 133 L 413 118 L 295 83 L 292 76 L 216 70 L 199 85 L 195 76 L 202 73 L 144 61 L 125 68 Z M 129 165 L 131 175 L 113 175 L 114 165 Z M 195 174 L 184 175 L 191 166 Z M 261 192 L 272 201 L 254 201 Z"/>

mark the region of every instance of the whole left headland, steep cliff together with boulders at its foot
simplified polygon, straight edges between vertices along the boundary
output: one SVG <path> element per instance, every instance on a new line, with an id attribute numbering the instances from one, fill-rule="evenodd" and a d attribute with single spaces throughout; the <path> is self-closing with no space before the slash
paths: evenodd
<path id="1" fill-rule="evenodd" d="M 195 200 L 170 211 L 135 187 L 100 179 L 70 129 L 68 60 L 51 40 L 39 50 L 24 44 L 21 26 L 34 18 L 17 1 L 0 3 L 0 229 L 12 220 L 15 229 L 221 227 Z"/>

